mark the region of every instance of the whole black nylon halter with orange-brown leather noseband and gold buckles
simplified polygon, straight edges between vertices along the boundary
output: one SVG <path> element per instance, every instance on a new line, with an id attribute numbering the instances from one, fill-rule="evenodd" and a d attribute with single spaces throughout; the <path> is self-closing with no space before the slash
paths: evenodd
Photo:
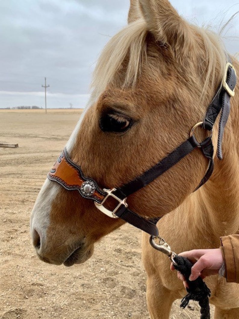
<path id="1" fill-rule="evenodd" d="M 190 137 L 181 145 L 179 145 L 174 151 L 159 161 L 156 165 L 148 169 L 140 176 L 136 177 L 131 182 L 119 188 L 100 189 L 93 179 L 83 175 L 80 166 L 78 166 L 69 158 L 66 148 L 60 154 L 53 168 L 47 174 L 47 177 L 49 180 L 59 183 L 67 190 L 78 190 L 83 198 L 93 200 L 96 207 L 107 216 L 111 218 L 121 218 L 133 226 L 147 232 L 151 236 L 158 236 L 158 229 L 156 227 L 156 222 L 158 219 L 146 219 L 129 210 L 126 203 L 127 196 L 148 185 L 158 176 L 170 169 L 170 167 L 174 166 L 187 154 L 192 152 L 196 147 L 199 147 L 203 155 L 209 159 L 207 172 L 196 189 L 201 187 L 209 179 L 214 168 L 213 144 L 211 138 L 213 125 L 221 111 L 217 157 L 222 159 L 222 137 L 229 116 L 230 98 L 235 94 L 235 85 L 235 69 L 231 63 L 227 63 L 222 87 L 220 87 L 215 94 L 214 99 L 207 109 L 204 120 L 197 123 L 192 128 Z M 194 136 L 194 129 L 198 126 L 209 131 L 209 137 L 200 143 Z M 104 203 L 108 197 L 113 197 L 118 202 L 113 211 L 110 211 L 104 206 Z"/>

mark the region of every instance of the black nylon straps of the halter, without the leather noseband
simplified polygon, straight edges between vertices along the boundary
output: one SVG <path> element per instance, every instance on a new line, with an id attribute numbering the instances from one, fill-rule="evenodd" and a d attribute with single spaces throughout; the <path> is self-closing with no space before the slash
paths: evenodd
<path id="1" fill-rule="evenodd" d="M 227 86 L 228 85 L 228 86 Z M 218 114 L 221 111 L 221 118 L 219 123 L 219 133 L 218 133 L 218 144 L 217 144 L 217 157 L 222 159 L 222 137 L 225 125 L 228 120 L 229 112 L 230 112 L 230 98 L 234 96 L 234 89 L 236 85 L 236 73 L 234 67 L 231 63 L 227 63 L 226 71 L 224 76 L 224 81 L 222 87 L 220 87 L 214 96 L 211 104 L 207 108 L 207 112 L 205 118 L 202 122 L 202 127 L 208 131 L 212 131 L 213 125 L 217 119 Z M 229 88 L 229 89 L 228 89 Z M 172 166 L 174 166 L 177 162 L 179 162 L 182 158 L 184 158 L 187 154 L 192 152 L 194 148 L 200 147 L 203 155 L 209 159 L 209 165 L 207 172 L 198 187 L 195 189 L 199 189 L 206 181 L 210 178 L 214 169 L 214 160 L 213 160 L 213 144 L 211 137 L 206 138 L 202 143 L 198 143 L 195 137 L 192 135 L 185 142 L 183 142 L 180 146 L 178 146 L 173 152 L 171 152 L 168 156 L 162 159 L 155 166 L 151 167 L 148 171 L 143 173 L 141 176 L 136 177 L 133 181 L 123 185 L 122 187 L 115 190 L 114 194 L 123 199 L 128 195 L 136 192 L 142 187 L 148 185 L 158 176 L 162 175 Z M 137 218 L 137 214 L 130 211 L 127 207 L 121 206 L 120 209 L 115 213 L 116 216 L 124 219 L 128 223 L 146 231 L 151 235 L 152 232 L 157 233 L 157 230 L 153 225 L 149 224 L 149 220 L 142 220 L 142 218 Z M 135 216 L 136 215 L 136 216 Z M 140 217 L 140 216 L 139 216 Z M 158 221 L 156 219 L 155 221 Z M 150 229 L 149 232 L 148 228 Z M 157 236 L 156 234 L 155 236 Z"/>

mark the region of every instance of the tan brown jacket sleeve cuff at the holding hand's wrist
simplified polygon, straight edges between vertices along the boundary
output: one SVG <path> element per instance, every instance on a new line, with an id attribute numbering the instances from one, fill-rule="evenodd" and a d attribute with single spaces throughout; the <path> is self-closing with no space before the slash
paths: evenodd
<path id="1" fill-rule="evenodd" d="M 227 282 L 239 284 L 239 235 L 221 237 L 221 252 L 225 262 Z"/>

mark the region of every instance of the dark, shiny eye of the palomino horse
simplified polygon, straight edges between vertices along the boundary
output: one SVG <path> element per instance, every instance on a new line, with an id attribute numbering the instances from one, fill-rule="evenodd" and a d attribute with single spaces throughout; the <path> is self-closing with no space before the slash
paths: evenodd
<path id="1" fill-rule="evenodd" d="M 100 119 L 100 128 L 103 132 L 125 132 L 131 124 L 132 119 L 119 114 L 105 114 Z"/>

